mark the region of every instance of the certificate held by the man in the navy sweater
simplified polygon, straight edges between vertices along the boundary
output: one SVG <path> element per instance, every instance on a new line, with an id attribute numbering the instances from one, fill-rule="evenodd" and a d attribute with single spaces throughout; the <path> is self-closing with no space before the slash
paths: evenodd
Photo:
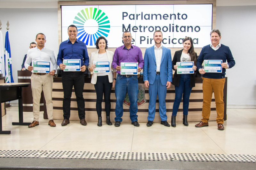
<path id="1" fill-rule="evenodd" d="M 222 60 L 204 60 L 204 71 L 206 73 L 222 73 Z"/>

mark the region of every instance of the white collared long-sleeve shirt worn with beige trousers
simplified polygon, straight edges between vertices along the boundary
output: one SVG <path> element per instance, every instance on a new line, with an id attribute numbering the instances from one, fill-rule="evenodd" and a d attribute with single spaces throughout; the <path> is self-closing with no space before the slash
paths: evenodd
<path id="1" fill-rule="evenodd" d="M 56 70 L 58 68 L 56 58 L 54 56 L 54 52 L 49 48 L 42 48 L 41 50 L 36 48 L 31 48 L 28 50 L 27 58 L 24 63 L 25 68 L 28 69 L 31 61 L 44 61 L 44 62 L 52 62 L 52 70 Z"/>

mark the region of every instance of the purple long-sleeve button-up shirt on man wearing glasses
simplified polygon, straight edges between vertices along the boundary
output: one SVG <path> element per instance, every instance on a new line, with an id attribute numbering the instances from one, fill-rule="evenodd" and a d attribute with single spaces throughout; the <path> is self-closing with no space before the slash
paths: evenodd
<path id="1" fill-rule="evenodd" d="M 112 67 L 116 69 L 116 66 L 120 66 L 122 63 L 138 63 L 138 67 L 143 69 L 144 60 L 142 57 L 142 52 L 139 47 L 132 45 L 130 49 L 125 48 L 124 45 L 116 48 Z M 120 71 L 116 71 L 120 74 Z"/>

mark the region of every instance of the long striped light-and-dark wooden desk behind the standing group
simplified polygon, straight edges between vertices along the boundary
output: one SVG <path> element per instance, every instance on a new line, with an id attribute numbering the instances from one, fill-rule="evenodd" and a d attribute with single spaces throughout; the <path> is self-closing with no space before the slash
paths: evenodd
<path id="1" fill-rule="evenodd" d="M 84 102 L 85 102 L 85 119 L 86 121 L 98 121 L 98 115 L 96 112 L 96 91 L 94 85 L 91 84 L 91 78 L 84 78 Z M 148 88 L 145 87 L 143 78 L 138 78 L 139 85 L 145 89 L 145 98 L 147 102 L 142 106 L 138 107 L 138 122 L 148 122 L 148 104 L 149 104 L 149 94 Z M 227 83 L 228 78 L 226 78 L 225 86 L 224 86 L 224 120 L 227 120 Z M 189 108 L 188 108 L 188 121 L 201 121 L 202 119 L 202 107 L 203 107 L 203 79 L 196 78 L 196 87 L 193 87 L 190 100 L 189 100 Z M 74 89 L 74 88 L 73 88 Z M 175 98 L 175 88 L 174 85 L 171 85 L 169 89 L 167 89 L 166 94 L 166 115 L 168 117 L 167 121 L 171 122 L 172 116 L 172 106 Z M 110 110 L 110 119 L 112 122 L 114 121 L 115 115 L 115 107 L 116 107 L 116 96 L 115 96 L 115 88 L 112 88 L 111 95 L 111 110 Z M 53 89 L 52 89 L 52 102 L 53 102 L 53 119 L 63 119 L 63 88 L 61 83 L 61 78 L 54 77 L 53 78 Z M 176 122 L 182 122 L 183 118 L 183 100 L 181 100 L 180 107 L 177 113 Z M 79 120 L 78 112 L 77 112 L 77 104 L 76 104 L 76 95 L 75 91 L 72 91 L 71 96 L 71 108 L 70 108 L 70 119 L 69 120 Z M 103 98 L 102 102 L 102 121 L 105 122 L 106 120 L 106 113 L 105 113 L 105 102 Z M 217 112 L 215 106 L 215 99 L 214 94 L 212 95 L 212 102 L 211 102 L 211 115 L 210 121 L 216 120 Z M 44 118 L 47 119 L 46 110 L 44 110 Z M 130 120 L 130 112 L 129 107 L 124 105 L 124 115 L 123 115 L 123 122 L 131 122 Z M 156 115 L 154 122 L 160 122 L 159 116 L 159 103 L 158 100 L 156 101 Z"/>

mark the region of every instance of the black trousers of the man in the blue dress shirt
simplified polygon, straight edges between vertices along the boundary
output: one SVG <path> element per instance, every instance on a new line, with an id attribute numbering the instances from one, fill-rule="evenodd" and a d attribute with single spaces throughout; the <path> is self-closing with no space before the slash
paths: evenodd
<path id="1" fill-rule="evenodd" d="M 62 71 L 61 82 L 64 92 L 63 99 L 63 117 L 69 120 L 70 117 L 70 102 L 72 95 L 72 88 L 74 86 L 76 94 L 76 103 L 78 109 L 79 119 L 85 119 L 85 106 L 84 106 L 84 72 L 82 71 Z"/>

